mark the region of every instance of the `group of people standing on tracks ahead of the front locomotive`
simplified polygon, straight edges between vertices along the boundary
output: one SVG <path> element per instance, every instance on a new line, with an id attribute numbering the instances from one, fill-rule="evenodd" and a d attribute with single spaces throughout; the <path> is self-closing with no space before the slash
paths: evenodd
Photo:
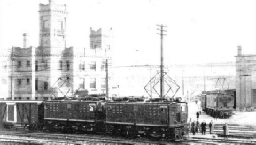
<path id="1" fill-rule="evenodd" d="M 193 133 L 193 135 L 195 135 L 196 133 L 198 133 L 198 131 L 201 131 L 202 135 L 206 134 L 206 122 L 203 121 L 201 124 L 199 122 L 199 112 L 196 113 L 197 115 L 197 121 L 193 121 L 192 122 L 192 118 L 190 118 L 190 127 L 189 130 Z M 209 123 L 209 129 L 210 129 L 210 134 L 214 134 L 214 123 L 213 120 L 211 120 L 211 122 Z M 223 135 L 225 138 L 227 138 L 227 136 L 229 135 L 229 126 L 227 123 L 225 123 L 225 125 L 223 126 Z"/>

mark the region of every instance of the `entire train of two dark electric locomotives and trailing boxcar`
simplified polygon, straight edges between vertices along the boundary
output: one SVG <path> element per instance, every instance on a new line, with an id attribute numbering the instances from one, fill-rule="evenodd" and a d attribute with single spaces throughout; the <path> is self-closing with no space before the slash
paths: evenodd
<path id="1" fill-rule="evenodd" d="M 44 131 L 122 134 L 180 140 L 187 103 L 105 100 L 0 101 L 1 124 Z"/>

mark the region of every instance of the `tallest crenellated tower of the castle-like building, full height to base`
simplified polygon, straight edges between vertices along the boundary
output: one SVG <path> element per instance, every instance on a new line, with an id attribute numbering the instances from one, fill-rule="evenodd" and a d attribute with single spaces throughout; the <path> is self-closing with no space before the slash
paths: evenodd
<path id="1" fill-rule="evenodd" d="M 53 93 L 55 96 L 63 96 L 66 95 L 66 90 L 60 88 L 63 83 L 58 80 L 64 76 L 67 78 L 72 73 L 69 67 L 71 58 L 63 57 L 63 53 L 67 51 L 66 5 L 49 0 L 48 4 L 39 4 L 38 12 L 40 41 L 35 52 L 35 99 L 47 99 Z"/>

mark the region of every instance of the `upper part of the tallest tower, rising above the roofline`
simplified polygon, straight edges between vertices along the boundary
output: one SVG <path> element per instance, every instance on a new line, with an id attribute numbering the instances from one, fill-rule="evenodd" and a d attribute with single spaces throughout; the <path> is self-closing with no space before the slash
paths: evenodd
<path id="1" fill-rule="evenodd" d="M 66 47 L 66 5 L 49 0 L 48 4 L 40 4 L 39 7 L 39 45 L 50 50 L 51 54 L 63 50 Z"/>

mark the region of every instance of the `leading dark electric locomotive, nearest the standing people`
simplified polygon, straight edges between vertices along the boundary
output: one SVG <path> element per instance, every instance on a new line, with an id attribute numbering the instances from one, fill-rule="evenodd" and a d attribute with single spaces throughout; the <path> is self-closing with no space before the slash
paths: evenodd
<path id="1" fill-rule="evenodd" d="M 188 108 L 182 102 L 109 102 L 107 132 L 178 140 L 186 134 Z"/>

